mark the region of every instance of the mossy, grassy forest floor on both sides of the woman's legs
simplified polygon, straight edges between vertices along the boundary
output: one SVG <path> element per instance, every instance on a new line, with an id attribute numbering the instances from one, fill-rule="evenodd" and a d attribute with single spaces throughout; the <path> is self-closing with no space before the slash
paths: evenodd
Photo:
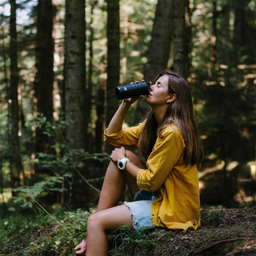
<path id="1" fill-rule="evenodd" d="M 58 206 L 58 205 L 57 205 Z M 12 209 L 12 208 L 11 208 Z M 51 214 L 47 214 L 51 211 Z M 52 207 L 12 212 L 0 221 L 0 255 L 73 256 L 86 236 L 86 220 L 95 211 Z M 256 209 L 201 210 L 201 226 L 187 232 L 121 227 L 108 235 L 110 256 L 256 255 Z"/>

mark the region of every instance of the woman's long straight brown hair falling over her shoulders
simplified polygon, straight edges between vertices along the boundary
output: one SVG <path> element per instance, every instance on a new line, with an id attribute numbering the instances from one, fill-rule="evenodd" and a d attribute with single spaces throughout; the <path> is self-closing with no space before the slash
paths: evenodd
<path id="1" fill-rule="evenodd" d="M 138 141 L 138 148 L 147 159 L 150 155 L 157 136 L 161 137 L 161 131 L 166 124 L 175 124 L 185 142 L 184 163 L 196 164 L 200 168 L 203 159 L 202 147 L 198 138 L 198 131 L 195 124 L 195 115 L 189 84 L 178 74 L 164 70 L 157 77 L 168 75 L 168 93 L 175 93 L 176 99 L 170 102 L 164 120 L 157 128 L 156 119 L 152 109 L 148 113 L 143 132 Z"/>

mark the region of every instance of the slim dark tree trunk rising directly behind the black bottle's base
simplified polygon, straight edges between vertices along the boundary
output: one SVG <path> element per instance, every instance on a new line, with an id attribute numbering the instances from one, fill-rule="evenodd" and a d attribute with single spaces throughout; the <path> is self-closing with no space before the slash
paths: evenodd
<path id="1" fill-rule="evenodd" d="M 107 0 L 108 3 L 108 79 L 107 79 L 107 108 L 106 126 L 118 108 L 115 97 L 115 87 L 119 86 L 120 79 L 120 27 L 119 27 L 119 0 Z M 108 152 L 109 146 L 106 146 Z"/>

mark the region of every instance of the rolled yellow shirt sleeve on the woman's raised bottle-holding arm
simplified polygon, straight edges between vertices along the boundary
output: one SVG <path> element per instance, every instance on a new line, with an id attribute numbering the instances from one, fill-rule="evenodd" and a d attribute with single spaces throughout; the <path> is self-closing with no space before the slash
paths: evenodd
<path id="1" fill-rule="evenodd" d="M 136 148 L 143 126 L 144 123 L 141 123 L 136 126 L 129 127 L 125 130 L 120 130 L 113 134 L 106 134 L 108 131 L 108 129 L 106 129 L 104 131 L 104 141 L 115 147 L 123 146 Z"/>

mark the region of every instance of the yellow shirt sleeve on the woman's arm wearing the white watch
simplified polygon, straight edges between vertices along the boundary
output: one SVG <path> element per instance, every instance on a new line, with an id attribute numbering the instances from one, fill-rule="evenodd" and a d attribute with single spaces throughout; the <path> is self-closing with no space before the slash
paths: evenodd
<path id="1" fill-rule="evenodd" d="M 174 125 L 166 126 L 147 160 L 147 169 L 137 174 L 140 189 L 157 191 L 184 152 L 184 140 Z"/>

